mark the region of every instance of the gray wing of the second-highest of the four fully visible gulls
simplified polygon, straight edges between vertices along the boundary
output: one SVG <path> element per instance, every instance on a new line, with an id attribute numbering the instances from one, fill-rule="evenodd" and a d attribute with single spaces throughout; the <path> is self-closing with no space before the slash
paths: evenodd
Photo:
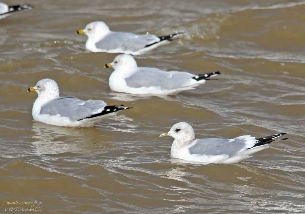
<path id="1" fill-rule="evenodd" d="M 192 85 L 196 80 L 192 79 L 195 75 L 188 72 L 162 71 L 157 68 L 137 68 L 137 72 L 125 78 L 129 87 L 161 87 L 161 89 L 178 89 Z"/>

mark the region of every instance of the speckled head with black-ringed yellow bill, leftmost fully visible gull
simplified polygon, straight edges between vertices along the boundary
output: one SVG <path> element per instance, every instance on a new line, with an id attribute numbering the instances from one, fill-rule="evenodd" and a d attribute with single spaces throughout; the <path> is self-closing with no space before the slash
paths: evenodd
<path id="1" fill-rule="evenodd" d="M 36 91 L 38 97 L 54 99 L 59 97 L 59 88 L 53 79 L 41 79 L 34 87 L 30 87 L 28 91 Z"/>

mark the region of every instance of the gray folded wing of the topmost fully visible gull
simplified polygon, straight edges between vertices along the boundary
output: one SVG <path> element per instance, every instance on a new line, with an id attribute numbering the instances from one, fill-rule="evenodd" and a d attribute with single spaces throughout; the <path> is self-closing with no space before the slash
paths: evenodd
<path id="1" fill-rule="evenodd" d="M 127 32 L 111 32 L 105 38 L 95 43 L 98 49 L 113 50 L 121 48 L 123 50 L 137 51 L 145 48 L 160 39 L 155 35 L 136 35 Z"/>

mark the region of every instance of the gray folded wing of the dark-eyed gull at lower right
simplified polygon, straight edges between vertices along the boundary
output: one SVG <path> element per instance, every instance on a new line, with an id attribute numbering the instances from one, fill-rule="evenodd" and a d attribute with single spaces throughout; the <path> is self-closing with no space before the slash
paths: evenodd
<path id="1" fill-rule="evenodd" d="M 241 151 L 251 148 L 257 140 L 250 135 L 234 139 L 206 138 L 196 139 L 195 144 L 188 148 L 190 154 L 199 155 L 228 155 L 233 156 Z"/>

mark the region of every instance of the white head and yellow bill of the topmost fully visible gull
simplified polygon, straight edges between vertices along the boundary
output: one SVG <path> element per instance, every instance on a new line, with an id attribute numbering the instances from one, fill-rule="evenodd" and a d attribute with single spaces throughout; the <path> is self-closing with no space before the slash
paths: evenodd
<path id="1" fill-rule="evenodd" d="M 85 34 L 88 37 L 101 37 L 109 32 L 109 27 L 102 21 L 91 22 L 84 29 L 77 30 L 75 34 Z"/>

